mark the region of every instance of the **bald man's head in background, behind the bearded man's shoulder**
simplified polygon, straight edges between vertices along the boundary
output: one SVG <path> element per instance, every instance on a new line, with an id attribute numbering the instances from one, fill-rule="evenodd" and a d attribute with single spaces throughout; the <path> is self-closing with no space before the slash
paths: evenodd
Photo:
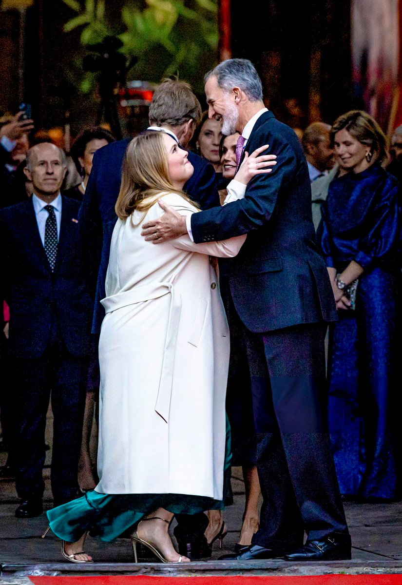
<path id="1" fill-rule="evenodd" d="M 304 130 L 301 138 L 304 152 L 310 164 L 321 173 L 332 168 L 335 163 L 331 146 L 331 126 L 324 122 L 313 122 Z"/>

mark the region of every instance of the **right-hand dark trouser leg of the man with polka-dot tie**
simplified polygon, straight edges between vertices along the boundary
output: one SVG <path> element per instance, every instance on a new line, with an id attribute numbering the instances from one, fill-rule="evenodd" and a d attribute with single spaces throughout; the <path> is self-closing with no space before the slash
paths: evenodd
<path id="1" fill-rule="evenodd" d="M 57 505 L 78 493 L 78 460 L 86 396 L 88 360 L 72 356 L 64 347 L 54 362 L 51 393 L 53 454 L 51 489 Z"/>

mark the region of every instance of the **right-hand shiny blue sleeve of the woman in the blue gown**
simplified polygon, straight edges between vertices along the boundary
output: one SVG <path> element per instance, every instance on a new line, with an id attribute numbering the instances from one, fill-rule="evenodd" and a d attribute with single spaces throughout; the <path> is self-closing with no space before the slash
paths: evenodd
<path id="1" fill-rule="evenodd" d="M 400 209 L 396 185 L 388 191 L 383 191 L 382 198 L 373 209 L 372 219 L 372 227 L 361 239 L 355 257 L 355 261 L 365 270 L 397 255 Z"/>

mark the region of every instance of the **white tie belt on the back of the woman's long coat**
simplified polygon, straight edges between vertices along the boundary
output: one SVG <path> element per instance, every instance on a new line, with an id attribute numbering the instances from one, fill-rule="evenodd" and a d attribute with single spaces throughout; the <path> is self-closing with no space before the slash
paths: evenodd
<path id="1" fill-rule="evenodd" d="M 182 308 L 181 295 L 173 287 L 175 275 L 167 282 L 145 284 L 133 288 L 130 291 L 118 292 L 100 301 L 105 308 L 106 314 L 138 302 L 150 301 L 155 298 L 170 294 L 171 302 L 169 307 L 168 328 L 165 339 L 164 357 L 162 362 L 161 379 L 158 388 L 155 412 L 169 422 L 169 410 L 172 398 L 172 383 L 175 365 L 176 343 L 180 324 Z"/>

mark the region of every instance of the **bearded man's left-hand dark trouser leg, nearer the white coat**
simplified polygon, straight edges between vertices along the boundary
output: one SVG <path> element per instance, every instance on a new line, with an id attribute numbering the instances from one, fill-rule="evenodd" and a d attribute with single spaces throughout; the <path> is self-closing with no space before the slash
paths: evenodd
<path id="1" fill-rule="evenodd" d="M 257 432 L 257 469 L 263 503 L 252 544 L 278 550 L 303 544 L 303 522 L 287 469 L 272 403 L 264 342 L 245 333 Z"/>

